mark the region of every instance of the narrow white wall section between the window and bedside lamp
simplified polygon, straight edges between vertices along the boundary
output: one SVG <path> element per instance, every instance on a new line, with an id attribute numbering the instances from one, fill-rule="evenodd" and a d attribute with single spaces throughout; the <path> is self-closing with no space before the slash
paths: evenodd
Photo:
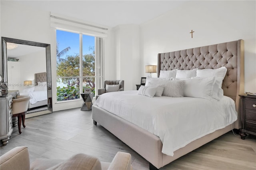
<path id="1" fill-rule="evenodd" d="M 116 67 L 114 80 L 124 80 L 124 90 L 136 90 L 135 84 L 140 83 L 139 32 L 140 27 L 135 24 L 119 25 L 112 29 L 114 58 L 109 64 Z M 107 74 L 105 76 L 109 80 Z"/>

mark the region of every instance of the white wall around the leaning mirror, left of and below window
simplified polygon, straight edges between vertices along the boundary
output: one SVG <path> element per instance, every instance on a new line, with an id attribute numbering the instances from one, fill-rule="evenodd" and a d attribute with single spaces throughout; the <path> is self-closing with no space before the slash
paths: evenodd
<path id="1" fill-rule="evenodd" d="M 0 36 L 51 45 L 53 111 L 81 107 L 82 100 L 56 104 L 56 33 L 50 27 L 50 11 L 16 6 L 14 1 L 0 3 Z"/>

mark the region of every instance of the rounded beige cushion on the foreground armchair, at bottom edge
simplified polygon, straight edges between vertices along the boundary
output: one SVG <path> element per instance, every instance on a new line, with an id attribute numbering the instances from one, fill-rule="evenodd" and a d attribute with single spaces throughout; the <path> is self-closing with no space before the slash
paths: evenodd
<path id="1" fill-rule="evenodd" d="M 101 164 L 98 158 L 86 154 L 76 154 L 47 170 L 101 170 Z"/>

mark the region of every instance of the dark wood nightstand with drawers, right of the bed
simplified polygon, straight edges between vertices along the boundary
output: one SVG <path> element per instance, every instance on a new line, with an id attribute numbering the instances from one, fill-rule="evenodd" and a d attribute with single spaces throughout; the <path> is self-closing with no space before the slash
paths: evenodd
<path id="1" fill-rule="evenodd" d="M 241 98 L 241 139 L 245 139 L 246 133 L 256 135 L 256 96 L 240 94 Z"/>

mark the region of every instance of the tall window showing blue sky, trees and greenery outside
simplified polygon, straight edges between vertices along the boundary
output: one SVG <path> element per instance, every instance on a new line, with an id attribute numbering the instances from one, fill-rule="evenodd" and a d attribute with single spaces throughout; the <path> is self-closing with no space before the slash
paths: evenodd
<path id="1" fill-rule="evenodd" d="M 102 38 L 56 30 L 57 102 L 80 99 L 102 86 Z"/>

